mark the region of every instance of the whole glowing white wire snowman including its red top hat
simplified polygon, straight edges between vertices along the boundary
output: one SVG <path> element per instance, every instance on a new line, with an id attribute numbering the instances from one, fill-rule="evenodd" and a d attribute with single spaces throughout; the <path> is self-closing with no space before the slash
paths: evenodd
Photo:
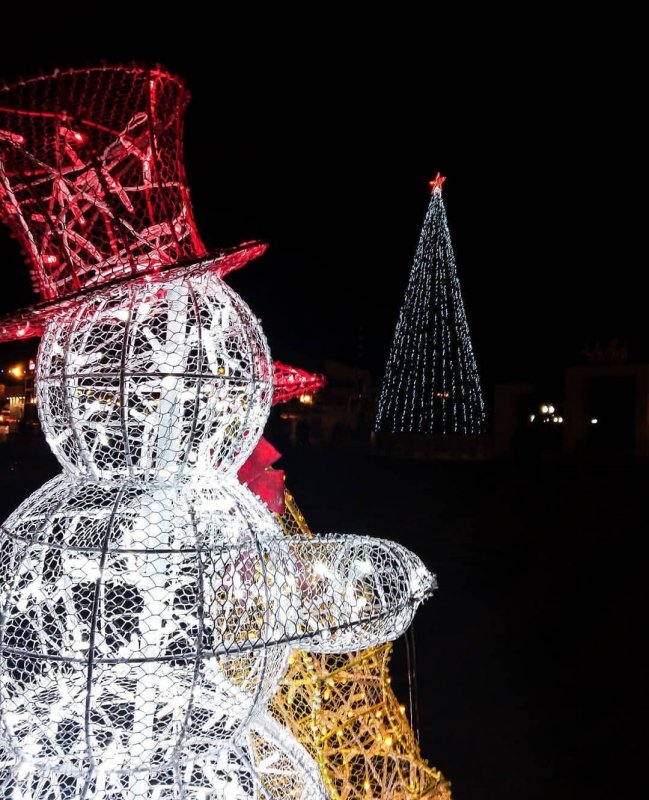
<path id="1" fill-rule="evenodd" d="M 0 526 L 3 800 L 325 800 L 269 711 L 291 649 L 390 641 L 434 586 L 393 542 L 287 537 L 240 482 L 275 369 L 222 279 L 260 251 L 196 233 L 186 98 L 134 67 L 0 90 L 0 214 L 44 301 L 0 333 L 42 335 L 62 467 Z"/>

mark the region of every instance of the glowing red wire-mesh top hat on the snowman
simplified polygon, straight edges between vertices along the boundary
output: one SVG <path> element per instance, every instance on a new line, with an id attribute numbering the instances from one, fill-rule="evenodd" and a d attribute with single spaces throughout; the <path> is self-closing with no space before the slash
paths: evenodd
<path id="1" fill-rule="evenodd" d="M 57 72 L 0 89 L 0 219 L 21 242 L 39 305 L 0 319 L 0 341 L 39 336 L 78 294 L 261 255 L 208 253 L 182 159 L 189 94 L 160 69 Z"/>

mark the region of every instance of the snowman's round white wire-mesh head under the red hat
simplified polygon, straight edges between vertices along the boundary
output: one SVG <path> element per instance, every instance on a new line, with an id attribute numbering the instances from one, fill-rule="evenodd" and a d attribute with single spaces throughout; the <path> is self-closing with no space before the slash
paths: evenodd
<path id="1" fill-rule="evenodd" d="M 258 320 L 213 272 L 130 282 L 48 324 L 37 369 L 45 436 L 90 480 L 233 474 L 270 410 Z"/>

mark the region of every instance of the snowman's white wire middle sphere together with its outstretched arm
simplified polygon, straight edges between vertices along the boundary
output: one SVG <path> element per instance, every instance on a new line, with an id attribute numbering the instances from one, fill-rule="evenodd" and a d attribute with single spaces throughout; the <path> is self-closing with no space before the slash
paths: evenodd
<path id="1" fill-rule="evenodd" d="M 216 755 L 265 716 L 285 645 L 393 638 L 431 588 L 397 545 L 287 539 L 235 481 L 63 474 L 2 534 L 3 738 L 19 763 L 79 781 L 126 770 L 150 783 Z"/>

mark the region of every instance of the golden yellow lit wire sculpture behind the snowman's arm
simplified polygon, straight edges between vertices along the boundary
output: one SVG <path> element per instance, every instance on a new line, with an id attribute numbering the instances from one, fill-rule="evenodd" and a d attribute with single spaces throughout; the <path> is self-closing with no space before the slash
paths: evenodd
<path id="1" fill-rule="evenodd" d="M 311 535 L 286 493 L 288 535 Z M 422 759 L 390 687 L 390 643 L 344 655 L 296 651 L 272 711 L 316 760 L 331 800 L 451 800 Z"/>

